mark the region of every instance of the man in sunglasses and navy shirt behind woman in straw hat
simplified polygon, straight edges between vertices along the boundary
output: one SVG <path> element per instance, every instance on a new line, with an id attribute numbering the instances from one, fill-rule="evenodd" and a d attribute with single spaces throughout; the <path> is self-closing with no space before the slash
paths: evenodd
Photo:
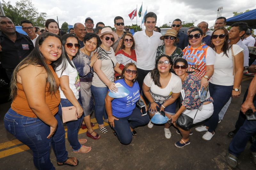
<path id="1" fill-rule="evenodd" d="M 172 22 L 172 29 L 177 31 L 177 37 L 179 38 L 179 43 L 177 43 L 177 47 L 179 47 L 181 50 L 183 50 L 185 47 L 188 46 L 188 35 L 185 33 L 180 32 L 180 28 L 182 27 L 182 22 L 180 19 L 175 19 Z"/>

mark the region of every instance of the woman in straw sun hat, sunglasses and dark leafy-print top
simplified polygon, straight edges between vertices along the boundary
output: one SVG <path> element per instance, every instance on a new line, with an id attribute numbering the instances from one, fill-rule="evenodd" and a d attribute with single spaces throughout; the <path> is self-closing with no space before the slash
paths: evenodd
<path id="1" fill-rule="evenodd" d="M 182 50 L 176 47 L 176 42 L 179 42 L 176 30 L 167 30 L 166 33 L 160 37 L 160 40 L 164 40 L 164 45 L 157 48 L 156 58 L 160 55 L 169 55 L 172 58 L 172 62 L 175 62 L 177 58 L 182 57 Z"/>

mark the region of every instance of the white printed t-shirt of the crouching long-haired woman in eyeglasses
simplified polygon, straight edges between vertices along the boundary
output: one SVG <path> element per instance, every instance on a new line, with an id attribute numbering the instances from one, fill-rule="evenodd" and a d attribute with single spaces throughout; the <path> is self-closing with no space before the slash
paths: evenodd
<path id="1" fill-rule="evenodd" d="M 172 93 L 179 93 L 180 90 L 182 89 L 181 79 L 174 73 L 172 73 L 172 77 L 165 88 L 160 88 L 157 85 L 155 85 L 153 79 L 151 79 L 150 72 L 144 78 L 144 84 L 150 87 L 149 92 L 153 100 L 160 104 L 170 99 Z"/>

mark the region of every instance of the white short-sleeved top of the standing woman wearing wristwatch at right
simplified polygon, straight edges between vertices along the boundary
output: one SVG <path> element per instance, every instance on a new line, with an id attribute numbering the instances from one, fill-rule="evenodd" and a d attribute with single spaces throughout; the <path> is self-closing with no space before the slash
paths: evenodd
<path id="1" fill-rule="evenodd" d="M 243 48 L 238 45 L 233 45 L 234 55 L 243 51 Z M 233 76 L 233 59 L 231 49 L 227 51 L 227 55 L 224 53 L 217 54 L 215 52 L 215 62 L 214 62 L 214 73 L 210 78 L 210 82 L 215 85 L 234 85 Z"/>

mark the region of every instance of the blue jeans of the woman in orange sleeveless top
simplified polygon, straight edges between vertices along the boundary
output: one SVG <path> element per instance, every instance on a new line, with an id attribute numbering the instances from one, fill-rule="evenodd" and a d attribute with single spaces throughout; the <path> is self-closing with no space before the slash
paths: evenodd
<path id="1" fill-rule="evenodd" d="M 65 146 L 65 130 L 60 116 L 54 116 L 58 127 L 50 139 L 50 126 L 38 118 L 31 118 L 17 114 L 11 108 L 4 116 L 4 127 L 20 142 L 33 151 L 33 161 L 37 169 L 55 169 L 50 160 L 51 144 L 57 162 L 65 162 L 68 152 Z"/>

